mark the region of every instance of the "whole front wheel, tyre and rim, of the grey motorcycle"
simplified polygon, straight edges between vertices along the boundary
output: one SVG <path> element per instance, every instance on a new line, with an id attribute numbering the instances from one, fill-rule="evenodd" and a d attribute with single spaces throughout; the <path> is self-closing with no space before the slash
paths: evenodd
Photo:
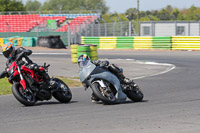
<path id="1" fill-rule="evenodd" d="M 115 95 L 110 88 L 110 84 L 104 81 L 107 85 L 107 87 L 101 87 L 101 85 L 98 82 L 92 83 L 92 91 L 94 95 L 100 99 L 105 104 L 115 104 L 116 98 Z"/>

